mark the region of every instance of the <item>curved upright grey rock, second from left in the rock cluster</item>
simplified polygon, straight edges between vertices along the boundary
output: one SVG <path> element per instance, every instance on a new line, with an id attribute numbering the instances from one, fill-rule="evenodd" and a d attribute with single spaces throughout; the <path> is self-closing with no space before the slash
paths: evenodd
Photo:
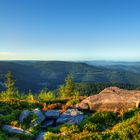
<path id="1" fill-rule="evenodd" d="M 45 115 L 42 113 L 42 111 L 40 110 L 40 109 L 34 109 L 34 110 L 32 110 L 32 113 L 34 113 L 36 116 L 37 116 L 37 118 L 38 118 L 38 120 L 37 120 L 37 123 L 38 124 L 41 124 L 45 119 L 46 119 L 46 117 L 45 117 Z"/>

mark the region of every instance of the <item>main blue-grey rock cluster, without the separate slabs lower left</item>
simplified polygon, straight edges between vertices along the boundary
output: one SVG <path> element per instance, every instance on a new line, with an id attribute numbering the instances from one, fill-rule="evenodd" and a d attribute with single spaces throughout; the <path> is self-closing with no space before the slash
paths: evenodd
<path id="1" fill-rule="evenodd" d="M 29 122 L 30 127 L 36 127 L 40 125 L 41 128 L 55 127 L 59 124 L 77 124 L 79 125 L 84 119 L 84 114 L 77 109 L 68 109 L 64 113 L 60 113 L 60 110 L 48 110 L 46 112 L 40 109 L 34 109 L 32 111 L 23 110 L 19 116 L 19 121 L 23 123 L 31 114 L 35 114 L 37 118 Z"/>

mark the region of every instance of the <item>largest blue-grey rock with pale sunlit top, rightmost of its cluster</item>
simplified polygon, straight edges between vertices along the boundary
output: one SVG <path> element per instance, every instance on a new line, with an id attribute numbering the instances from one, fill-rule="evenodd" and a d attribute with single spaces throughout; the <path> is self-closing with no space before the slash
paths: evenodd
<path id="1" fill-rule="evenodd" d="M 68 109 L 60 116 L 60 118 L 56 120 L 56 123 L 79 125 L 83 119 L 84 119 L 84 115 L 81 111 L 78 111 L 77 109 Z"/>

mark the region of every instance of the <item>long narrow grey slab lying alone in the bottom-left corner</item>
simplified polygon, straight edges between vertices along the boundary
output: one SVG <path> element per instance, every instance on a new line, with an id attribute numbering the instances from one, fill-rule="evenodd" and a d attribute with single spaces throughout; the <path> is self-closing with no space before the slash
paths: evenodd
<path id="1" fill-rule="evenodd" d="M 32 133 L 30 133 L 29 131 L 23 130 L 21 128 L 18 127 L 13 127 L 11 125 L 3 125 L 2 129 L 8 133 L 14 133 L 14 134 L 25 134 L 25 135 L 29 135 L 29 136 L 34 136 Z"/>

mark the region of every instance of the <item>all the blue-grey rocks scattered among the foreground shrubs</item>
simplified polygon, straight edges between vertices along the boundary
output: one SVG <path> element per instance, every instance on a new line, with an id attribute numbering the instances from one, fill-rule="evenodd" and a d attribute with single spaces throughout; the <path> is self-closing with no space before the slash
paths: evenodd
<path id="1" fill-rule="evenodd" d="M 79 125 L 81 121 L 84 119 L 84 114 L 81 111 L 78 111 L 77 109 L 68 109 L 64 113 L 61 113 L 59 110 L 48 110 L 48 111 L 42 111 L 40 109 L 34 109 L 34 110 L 23 110 L 19 116 L 19 122 L 23 123 L 26 121 L 30 115 L 36 116 L 36 121 L 31 121 L 29 126 L 34 128 L 37 125 L 40 125 L 40 127 L 47 128 L 47 127 L 57 127 L 60 124 L 77 124 Z M 23 130 L 18 127 L 13 127 L 11 125 L 3 125 L 2 129 L 8 133 L 14 133 L 14 134 L 25 134 L 29 136 L 33 136 L 32 133 L 29 131 Z M 43 140 L 43 135 L 45 133 L 43 131 L 40 132 L 39 136 L 37 137 L 37 140 Z"/>

